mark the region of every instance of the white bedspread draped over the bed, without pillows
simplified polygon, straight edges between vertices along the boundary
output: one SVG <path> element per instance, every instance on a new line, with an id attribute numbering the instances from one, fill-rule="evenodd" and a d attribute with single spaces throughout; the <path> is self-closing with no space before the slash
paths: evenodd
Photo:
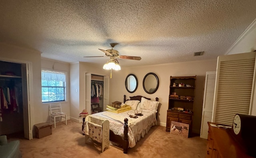
<path id="1" fill-rule="evenodd" d="M 110 130 L 114 132 L 114 134 L 124 136 L 124 119 L 128 119 L 128 140 L 129 147 L 132 148 L 135 146 L 136 142 L 140 140 L 141 137 L 144 137 L 145 134 L 148 133 L 150 128 L 157 124 L 156 121 L 156 113 L 148 110 L 143 110 L 143 116 L 138 116 L 137 119 L 130 118 L 129 115 L 134 115 L 134 110 L 125 111 L 123 113 L 111 113 L 111 112 L 101 112 L 92 114 L 93 117 L 104 117 L 110 122 Z M 84 123 L 84 134 L 86 132 L 87 123 Z"/>

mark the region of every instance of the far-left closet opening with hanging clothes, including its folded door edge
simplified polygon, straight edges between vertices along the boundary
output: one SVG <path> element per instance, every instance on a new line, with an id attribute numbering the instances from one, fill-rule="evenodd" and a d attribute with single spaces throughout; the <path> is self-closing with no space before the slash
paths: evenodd
<path id="1" fill-rule="evenodd" d="M 0 61 L 0 135 L 32 139 L 28 63 Z"/>

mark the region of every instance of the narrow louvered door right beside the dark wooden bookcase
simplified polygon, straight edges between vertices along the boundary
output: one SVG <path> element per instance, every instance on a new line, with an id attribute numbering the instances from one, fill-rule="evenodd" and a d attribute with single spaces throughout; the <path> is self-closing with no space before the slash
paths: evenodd
<path id="1" fill-rule="evenodd" d="M 200 138 L 208 137 L 208 121 L 212 121 L 216 71 L 206 72 L 204 85 L 204 102 L 202 111 Z"/>

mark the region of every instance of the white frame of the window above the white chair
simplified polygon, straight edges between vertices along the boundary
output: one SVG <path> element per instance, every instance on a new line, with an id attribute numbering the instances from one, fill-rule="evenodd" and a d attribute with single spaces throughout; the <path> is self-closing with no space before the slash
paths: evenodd
<path id="1" fill-rule="evenodd" d="M 63 93 L 63 95 L 64 95 L 64 100 L 61 100 L 61 101 L 46 101 L 46 102 L 43 102 L 42 101 L 42 104 L 49 104 L 49 103 L 60 103 L 60 102 L 66 102 L 67 101 L 67 71 L 59 71 L 59 70 L 52 70 L 52 69 L 41 69 L 41 73 L 42 73 L 42 71 L 51 71 L 52 73 L 54 73 L 54 72 L 61 72 L 61 73 L 64 73 L 65 74 L 65 81 L 63 82 L 63 88 L 64 88 L 64 93 Z M 42 100 L 42 88 L 43 87 L 48 87 L 48 88 L 51 88 L 51 87 L 53 87 L 53 88 L 62 88 L 62 86 L 42 86 L 42 75 L 41 75 L 41 100 Z M 48 90 L 48 92 L 49 92 L 49 90 Z"/>

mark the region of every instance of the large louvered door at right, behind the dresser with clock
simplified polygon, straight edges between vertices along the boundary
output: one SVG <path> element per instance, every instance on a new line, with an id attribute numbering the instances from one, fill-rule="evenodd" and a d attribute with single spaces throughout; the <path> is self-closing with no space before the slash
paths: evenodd
<path id="1" fill-rule="evenodd" d="M 236 113 L 249 114 L 255 52 L 218 57 L 213 121 L 232 125 Z"/>

